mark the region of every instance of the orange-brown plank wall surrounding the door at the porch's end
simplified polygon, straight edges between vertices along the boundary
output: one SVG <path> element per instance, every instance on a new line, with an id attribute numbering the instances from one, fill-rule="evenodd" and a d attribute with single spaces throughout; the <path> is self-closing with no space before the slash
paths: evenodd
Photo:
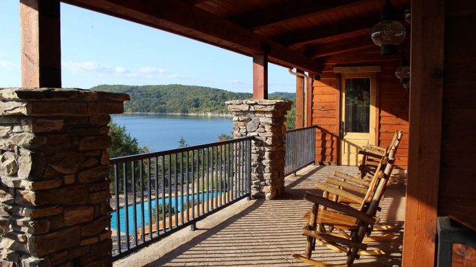
<path id="1" fill-rule="evenodd" d="M 401 49 L 399 47 L 399 49 Z M 405 42 L 407 60 L 409 43 Z M 334 73 L 335 66 L 381 66 L 376 73 L 378 91 L 376 99 L 376 144 L 388 146 L 396 130 L 403 131 L 396 163 L 399 168 L 407 168 L 409 138 L 409 92 L 395 77 L 400 66 L 400 53 L 380 55 L 378 47 L 368 47 L 347 53 L 321 58 L 324 70 L 321 79 L 313 84 L 313 125 L 317 125 L 316 162 L 320 164 L 339 163 L 339 122 L 340 118 L 340 77 Z"/>

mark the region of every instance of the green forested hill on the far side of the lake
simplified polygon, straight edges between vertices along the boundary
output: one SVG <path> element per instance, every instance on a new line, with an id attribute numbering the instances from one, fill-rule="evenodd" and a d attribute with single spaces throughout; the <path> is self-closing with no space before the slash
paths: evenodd
<path id="1" fill-rule="evenodd" d="M 100 85 L 90 88 L 95 91 L 122 92 L 131 96 L 124 103 L 124 112 L 155 113 L 227 113 L 225 101 L 231 99 L 250 99 L 251 93 L 229 92 L 202 86 L 183 86 L 169 84 L 159 86 Z M 275 92 L 270 99 L 289 99 L 295 94 Z"/>

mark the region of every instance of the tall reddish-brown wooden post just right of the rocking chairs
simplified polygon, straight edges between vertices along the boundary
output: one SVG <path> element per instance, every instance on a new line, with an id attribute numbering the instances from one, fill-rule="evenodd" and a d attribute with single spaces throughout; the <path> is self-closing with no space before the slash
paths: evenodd
<path id="1" fill-rule="evenodd" d="M 411 1 L 410 135 L 402 266 L 433 266 L 440 181 L 444 0 Z"/>

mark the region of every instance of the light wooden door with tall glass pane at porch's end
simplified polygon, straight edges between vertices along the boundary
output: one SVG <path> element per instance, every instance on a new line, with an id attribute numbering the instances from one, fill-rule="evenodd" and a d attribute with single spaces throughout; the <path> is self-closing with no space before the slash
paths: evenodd
<path id="1" fill-rule="evenodd" d="M 364 144 L 375 144 L 376 74 L 342 73 L 339 164 L 357 165 Z"/>

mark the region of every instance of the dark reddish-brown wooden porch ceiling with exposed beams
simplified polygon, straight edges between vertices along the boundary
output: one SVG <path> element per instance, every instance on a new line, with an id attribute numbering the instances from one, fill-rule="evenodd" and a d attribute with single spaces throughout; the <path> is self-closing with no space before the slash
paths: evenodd
<path id="1" fill-rule="evenodd" d="M 318 72 L 329 55 L 374 46 L 384 0 L 62 0 L 245 55 Z M 401 14 L 410 0 L 392 0 Z"/>

